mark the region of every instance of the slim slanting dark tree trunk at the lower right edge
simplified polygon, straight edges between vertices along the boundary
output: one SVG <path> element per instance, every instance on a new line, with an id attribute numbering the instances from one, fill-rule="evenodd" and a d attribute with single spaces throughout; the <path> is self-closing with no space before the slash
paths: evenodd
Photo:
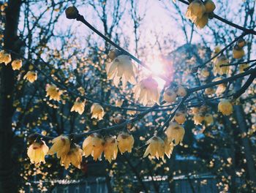
<path id="1" fill-rule="evenodd" d="M 240 129 L 241 135 L 247 133 L 246 128 L 246 121 L 244 119 L 244 111 L 243 107 L 241 105 L 234 106 L 235 114 L 236 114 L 236 120 L 238 122 L 238 128 Z M 249 175 L 249 181 L 252 181 L 253 185 L 256 184 L 256 171 L 255 171 L 255 164 L 252 157 L 252 151 L 249 144 L 249 139 L 247 136 L 242 137 L 242 144 L 244 146 L 244 154 L 246 158 L 246 165 L 247 165 L 247 172 Z"/>

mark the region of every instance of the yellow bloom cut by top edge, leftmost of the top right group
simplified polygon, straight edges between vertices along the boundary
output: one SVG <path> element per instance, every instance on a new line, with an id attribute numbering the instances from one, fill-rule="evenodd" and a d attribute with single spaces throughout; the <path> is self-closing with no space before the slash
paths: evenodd
<path id="1" fill-rule="evenodd" d="M 187 7 L 186 17 L 194 23 L 195 20 L 202 18 L 205 12 L 206 7 L 203 5 L 203 2 L 195 0 L 189 4 L 189 7 Z"/>

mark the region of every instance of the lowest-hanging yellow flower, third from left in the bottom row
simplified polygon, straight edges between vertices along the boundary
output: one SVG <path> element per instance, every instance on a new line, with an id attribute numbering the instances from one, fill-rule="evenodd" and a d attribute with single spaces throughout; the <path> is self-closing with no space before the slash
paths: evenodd
<path id="1" fill-rule="evenodd" d="M 61 165 L 63 165 L 66 170 L 69 167 L 69 164 L 72 164 L 73 166 L 78 167 L 78 169 L 80 169 L 82 155 L 83 151 L 79 148 L 79 146 L 73 144 L 67 154 L 61 155 Z"/>

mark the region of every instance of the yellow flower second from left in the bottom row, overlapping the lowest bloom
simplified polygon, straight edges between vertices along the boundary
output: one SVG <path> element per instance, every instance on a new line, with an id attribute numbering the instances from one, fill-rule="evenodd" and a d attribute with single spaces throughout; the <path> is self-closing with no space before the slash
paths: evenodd
<path id="1" fill-rule="evenodd" d="M 49 155 L 57 154 L 57 157 L 60 158 L 70 150 L 70 140 L 67 136 L 60 135 L 59 137 L 55 137 L 52 143 L 53 146 L 51 146 L 48 152 Z"/>

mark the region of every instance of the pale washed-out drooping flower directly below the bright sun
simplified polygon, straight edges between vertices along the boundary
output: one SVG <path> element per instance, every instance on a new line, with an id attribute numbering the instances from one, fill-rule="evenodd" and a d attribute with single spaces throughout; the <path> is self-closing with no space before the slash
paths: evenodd
<path id="1" fill-rule="evenodd" d="M 143 105 L 159 104 L 158 83 L 152 77 L 147 77 L 135 86 L 135 99 Z"/>

